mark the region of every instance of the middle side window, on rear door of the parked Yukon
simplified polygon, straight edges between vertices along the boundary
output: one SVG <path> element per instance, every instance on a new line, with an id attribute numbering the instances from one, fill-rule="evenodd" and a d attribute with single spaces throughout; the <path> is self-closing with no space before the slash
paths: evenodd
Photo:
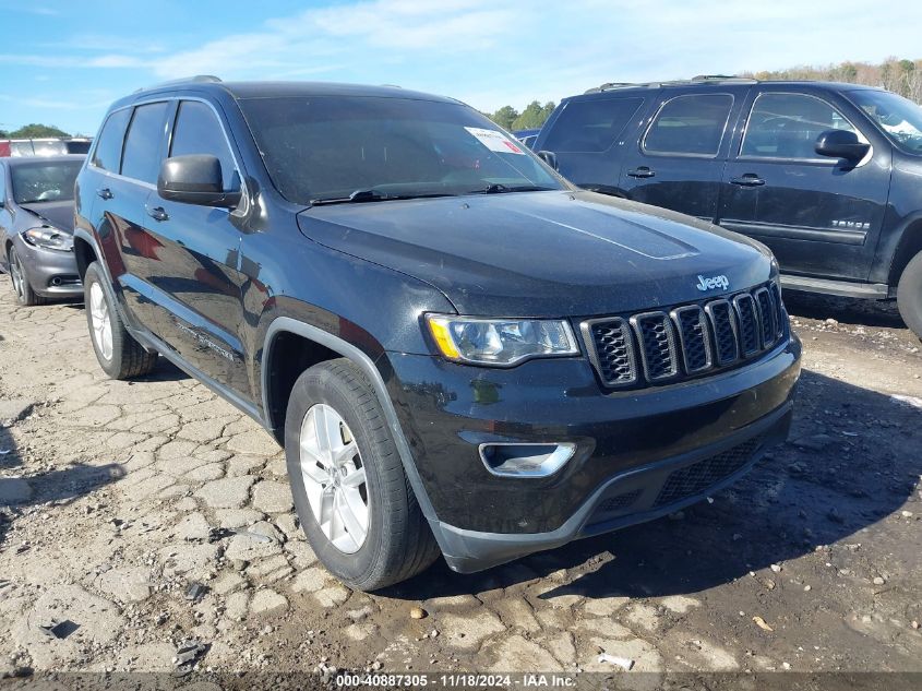
<path id="1" fill-rule="evenodd" d="M 716 156 L 733 107 L 730 94 L 696 94 L 668 100 L 644 138 L 644 151 Z"/>

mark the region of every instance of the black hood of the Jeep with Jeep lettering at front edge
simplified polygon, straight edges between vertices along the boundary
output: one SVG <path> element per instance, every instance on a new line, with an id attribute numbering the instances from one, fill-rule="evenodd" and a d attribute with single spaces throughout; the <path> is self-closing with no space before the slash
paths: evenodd
<path id="1" fill-rule="evenodd" d="M 638 311 L 733 293 L 771 271 L 755 241 L 592 192 L 313 206 L 298 222 L 316 242 L 438 287 L 463 314 Z M 702 291 L 699 276 L 728 281 Z"/>

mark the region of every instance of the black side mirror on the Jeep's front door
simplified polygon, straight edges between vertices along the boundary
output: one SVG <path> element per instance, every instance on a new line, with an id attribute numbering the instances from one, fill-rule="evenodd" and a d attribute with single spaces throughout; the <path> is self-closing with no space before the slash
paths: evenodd
<path id="1" fill-rule="evenodd" d="M 234 209 L 240 192 L 225 192 L 220 160 L 209 154 L 173 156 L 160 164 L 157 193 L 169 201 Z"/>

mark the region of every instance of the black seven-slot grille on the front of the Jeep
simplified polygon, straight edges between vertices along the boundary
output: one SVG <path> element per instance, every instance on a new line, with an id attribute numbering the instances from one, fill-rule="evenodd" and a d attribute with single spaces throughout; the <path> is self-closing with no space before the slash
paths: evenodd
<path id="1" fill-rule="evenodd" d="M 727 298 L 580 324 L 609 389 L 681 381 L 758 357 L 787 333 L 775 282 Z"/>

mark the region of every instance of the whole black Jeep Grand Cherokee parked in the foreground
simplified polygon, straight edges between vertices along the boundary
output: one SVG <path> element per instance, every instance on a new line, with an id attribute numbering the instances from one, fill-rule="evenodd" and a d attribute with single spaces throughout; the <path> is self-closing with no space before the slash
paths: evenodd
<path id="1" fill-rule="evenodd" d="M 577 190 L 452 99 L 141 91 L 76 223 L 101 367 L 160 354 L 274 432 L 356 588 L 675 511 L 788 431 L 800 345 L 765 247 Z"/>

